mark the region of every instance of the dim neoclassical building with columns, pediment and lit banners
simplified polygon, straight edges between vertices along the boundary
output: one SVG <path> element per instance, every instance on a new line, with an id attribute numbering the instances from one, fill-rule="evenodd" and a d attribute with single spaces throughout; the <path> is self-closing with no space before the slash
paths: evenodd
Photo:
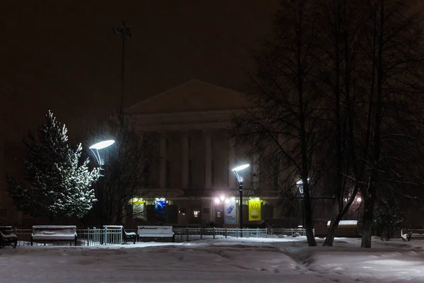
<path id="1" fill-rule="evenodd" d="M 203 81 L 182 83 L 126 109 L 136 129 L 158 143 L 160 166 L 132 203 L 134 218 L 150 223 L 236 226 L 239 190 L 231 168 L 257 163 L 232 143 L 231 120 L 249 108 L 242 93 Z M 254 162 L 255 161 L 255 162 Z M 243 223 L 278 214 L 278 190 L 258 166 L 243 173 Z"/>

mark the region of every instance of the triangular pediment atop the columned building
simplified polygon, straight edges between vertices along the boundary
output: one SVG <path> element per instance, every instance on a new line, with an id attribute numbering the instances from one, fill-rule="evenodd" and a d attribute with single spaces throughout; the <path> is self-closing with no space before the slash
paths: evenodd
<path id="1" fill-rule="evenodd" d="M 249 108 L 244 95 L 230 88 L 191 80 L 126 109 L 129 115 L 225 111 Z"/>

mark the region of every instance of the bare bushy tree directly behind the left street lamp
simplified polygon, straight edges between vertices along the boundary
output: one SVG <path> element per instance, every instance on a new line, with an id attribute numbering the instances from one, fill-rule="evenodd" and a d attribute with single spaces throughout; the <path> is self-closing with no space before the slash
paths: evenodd
<path id="1" fill-rule="evenodd" d="M 111 115 L 90 129 L 90 143 L 110 137 L 116 142 L 102 152 L 105 165 L 98 184 L 98 219 L 100 224 L 122 224 L 134 197 L 143 197 L 158 166 L 155 141 L 149 133 L 136 132 L 132 117 Z"/>

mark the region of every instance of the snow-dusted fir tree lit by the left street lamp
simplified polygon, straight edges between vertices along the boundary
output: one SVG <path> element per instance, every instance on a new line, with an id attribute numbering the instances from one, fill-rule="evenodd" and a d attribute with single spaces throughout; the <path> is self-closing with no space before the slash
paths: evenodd
<path id="1" fill-rule="evenodd" d="M 28 149 L 23 161 L 26 182 L 8 176 L 9 195 L 20 211 L 32 216 L 82 217 L 93 204 L 98 168 L 90 171 L 88 158 L 80 161 L 81 144 L 71 148 L 65 125 L 52 112 L 46 120 L 37 137 L 30 132 L 23 141 Z"/>

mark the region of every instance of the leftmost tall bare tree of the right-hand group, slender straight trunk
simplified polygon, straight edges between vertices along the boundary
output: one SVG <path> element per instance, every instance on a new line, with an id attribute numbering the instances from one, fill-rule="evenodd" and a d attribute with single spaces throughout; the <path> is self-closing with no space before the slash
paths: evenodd
<path id="1" fill-rule="evenodd" d="M 302 181 L 305 229 L 310 246 L 316 246 L 312 226 L 310 184 L 314 153 L 319 142 L 317 125 L 325 110 L 316 91 L 312 1 L 281 1 L 273 37 L 257 54 L 257 71 L 250 76 L 247 98 L 258 105 L 235 120 L 238 141 L 252 144 L 263 165 L 279 165 L 285 174 L 279 185 L 293 190 Z M 274 172 L 276 174 L 276 172 Z"/>

